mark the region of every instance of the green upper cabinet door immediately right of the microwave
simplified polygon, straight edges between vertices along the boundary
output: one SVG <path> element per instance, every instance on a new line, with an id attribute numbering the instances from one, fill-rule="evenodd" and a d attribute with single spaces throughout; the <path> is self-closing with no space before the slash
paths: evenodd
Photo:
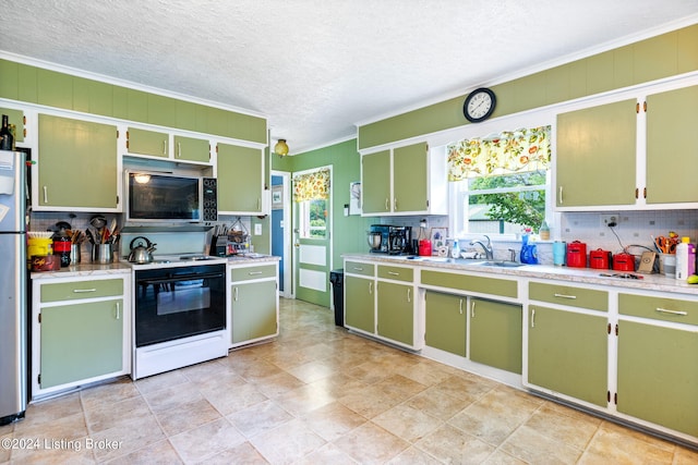
<path id="1" fill-rule="evenodd" d="M 264 151 L 218 144 L 218 211 L 258 215 L 264 191 Z"/>

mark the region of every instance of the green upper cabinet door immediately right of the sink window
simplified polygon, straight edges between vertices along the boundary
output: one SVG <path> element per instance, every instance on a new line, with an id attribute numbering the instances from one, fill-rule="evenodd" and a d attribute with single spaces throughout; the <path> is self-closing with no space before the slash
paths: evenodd
<path id="1" fill-rule="evenodd" d="M 557 209 L 635 205 L 637 101 L 557 115 Z"/>

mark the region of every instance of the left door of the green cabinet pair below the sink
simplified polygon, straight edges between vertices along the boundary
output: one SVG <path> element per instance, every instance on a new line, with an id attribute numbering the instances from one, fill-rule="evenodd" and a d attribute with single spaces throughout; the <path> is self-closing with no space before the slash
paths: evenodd
<path id="1" fill-rule="evenodd" d="M 467 297 L 426 291 L 424 342 L 430 347 L 466 356 Z"/>

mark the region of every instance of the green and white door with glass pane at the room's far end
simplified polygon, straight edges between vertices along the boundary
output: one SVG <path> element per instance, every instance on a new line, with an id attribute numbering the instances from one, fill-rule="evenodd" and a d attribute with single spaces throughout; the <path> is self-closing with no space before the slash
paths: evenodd
<path id="1" fill-rule="evenodd" d="M 326 199 L 293 201 L 296 298 L 324 307 L 329 307 L 332 295 L 330 231 L 332 194 Z"/>

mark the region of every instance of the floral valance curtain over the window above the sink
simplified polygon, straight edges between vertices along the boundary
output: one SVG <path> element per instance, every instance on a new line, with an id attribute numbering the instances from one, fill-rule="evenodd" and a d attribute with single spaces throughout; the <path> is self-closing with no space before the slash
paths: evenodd
<path id="1" fill-rule="evenodd" d="M 446 147 L 448 181 L 546 170 L 551 159 L 550 132 L 549 125 L 450 144 Z"/>

